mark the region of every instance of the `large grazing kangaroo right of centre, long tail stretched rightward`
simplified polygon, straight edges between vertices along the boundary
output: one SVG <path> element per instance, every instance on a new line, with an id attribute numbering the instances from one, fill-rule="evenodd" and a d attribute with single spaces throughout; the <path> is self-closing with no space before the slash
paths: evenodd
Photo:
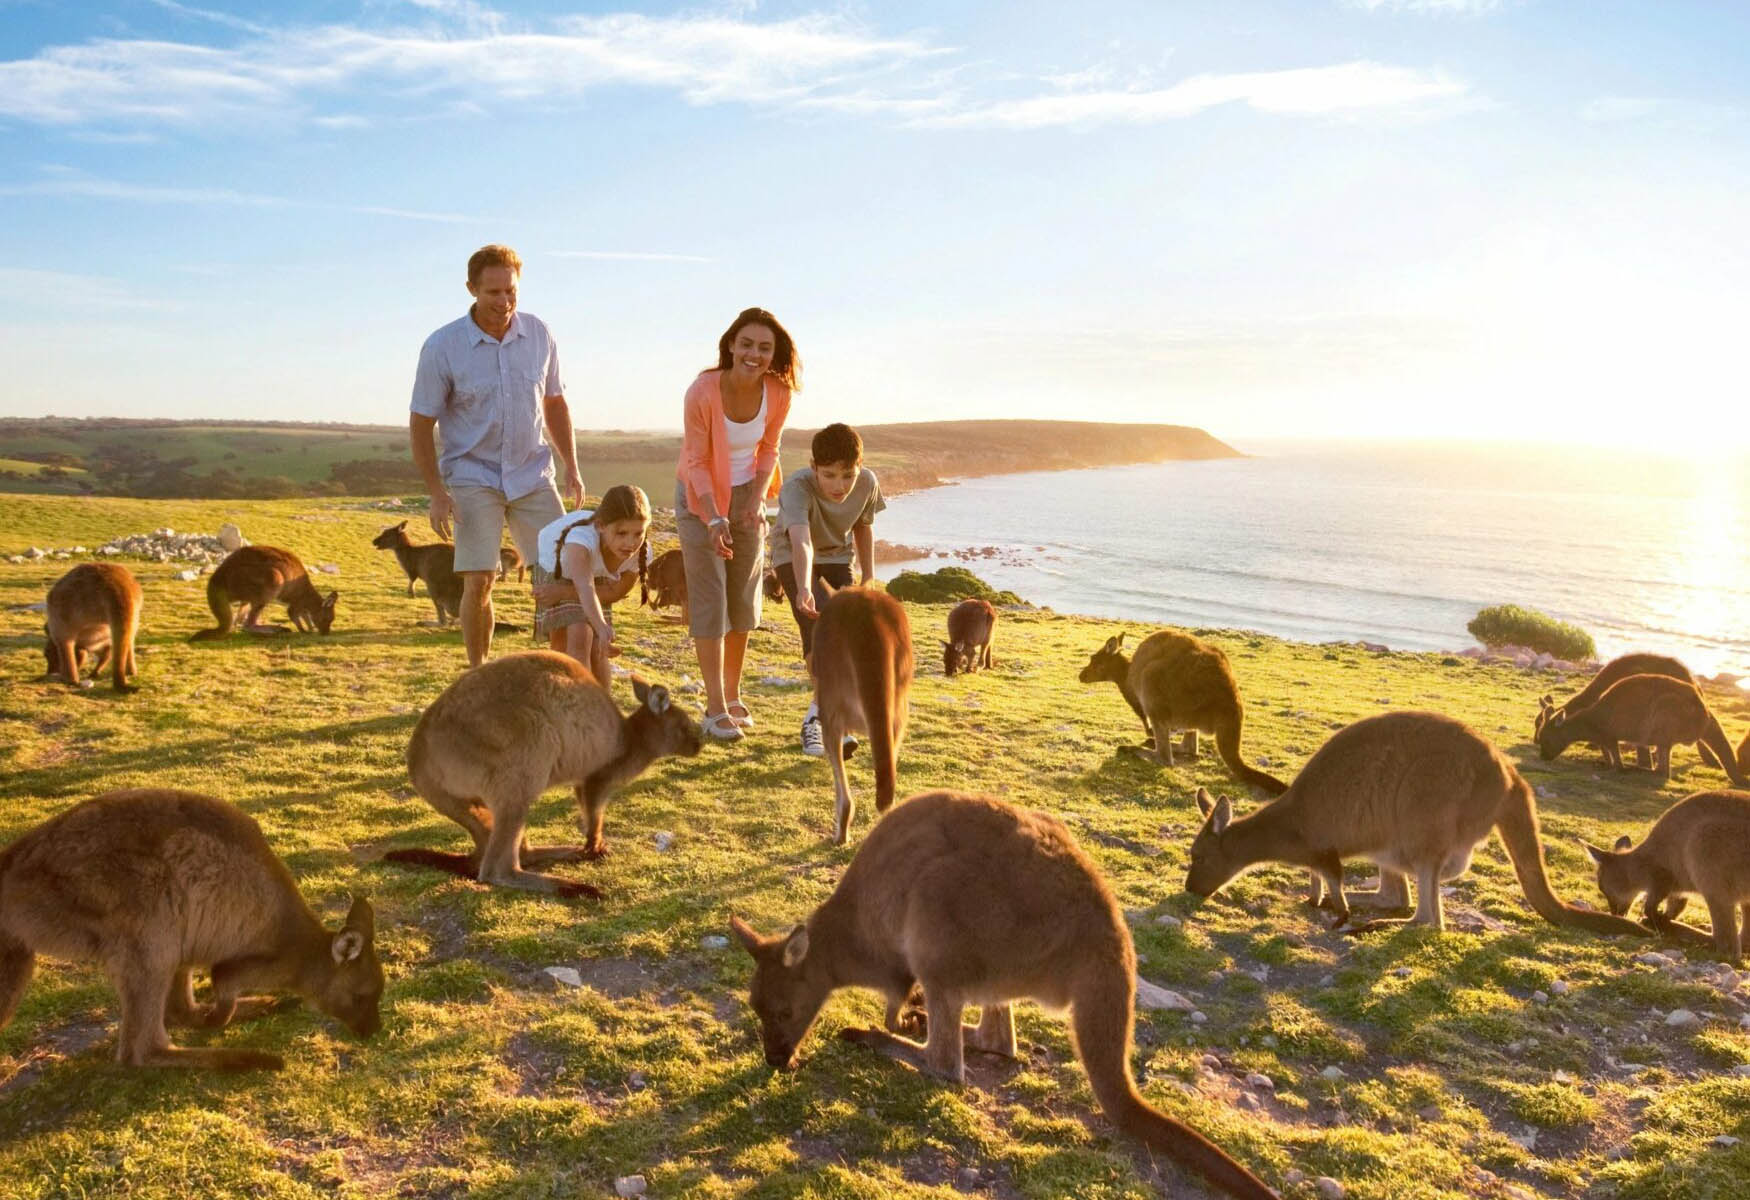
<path id="1" fill-rule="evenodd" d="M 1563 904 L 1550 892 L 1538 843 L 1531 785 L 1479 733 L 1437 712 L 1388 712 L 1339 729 L 1295 775 L 1288 791 L 1248 817 L 1234 817 L 1227 796 L 1209 801 L 1197 789 L 1208 820 L 1192 843 L 1185 890 L 1214 896 L 1228 880 L 1260 862 L 1311 868 L 1335 913 L 1332 929 L 1349 920 L 1342 894 L 1342 859 L 1362 857 L 1416 878 L 1410 924 L 1446 929 L 1440 882 L 1470 868 L 1470 855 L 1498 829 L 1519 875 L 1519 887 L 1540 917 L 1603 934 L 1645 934 L 1631 920 Z M 1370 922 L 1358 929 L 1402 922 Z"/>

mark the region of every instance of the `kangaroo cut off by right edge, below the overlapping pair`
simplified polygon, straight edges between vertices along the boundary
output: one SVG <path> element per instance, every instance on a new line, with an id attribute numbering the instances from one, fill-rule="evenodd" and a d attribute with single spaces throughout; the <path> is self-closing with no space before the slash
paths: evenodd
<path id="1" fill-rule="evenodd" d="M 1699 929 L 1676 924 L 1687 897 L 1701 896 L 1713 922 L 1713 948 L 1743 966 L 1743 938 L 1750 936 L 1750 792 L 1685 796 L 1664 810 L 1645 841 L 1633 850 L 1629 845 L 1628 836 L 1610 850 L 1586 843 L 1610 911 L 1620 917 L 1645 894 L 1643 911 L 1654 927 L 1710 941 Z"/>

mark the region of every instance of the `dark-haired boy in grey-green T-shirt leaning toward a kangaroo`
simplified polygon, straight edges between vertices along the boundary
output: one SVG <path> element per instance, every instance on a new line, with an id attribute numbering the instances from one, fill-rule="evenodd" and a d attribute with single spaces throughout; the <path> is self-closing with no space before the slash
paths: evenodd
<path id="1" fill-rule="evenodd" d="M 858 584 L 875 577 L 875 514 L 887 507 L 875 472 L 863 465 L 863 439 L 849 425 L 828 425 L 814 436 L 810 462 L 784 481 L 772 527 L 772 567 L 777 570 L 789 610 L 802 633 L 802 658 L 808 661 L 814 621 L 826 602 L 821 583 L 850 586 L 850 553 L 856 549 Z M 808 581 L 803 588 L 802 581 Z M 856 738 L 845 738 L 845 752 Z M 808 703 L 802 719 L 802 752 L 826 754 L 821 740 L 819 705 Z"/>

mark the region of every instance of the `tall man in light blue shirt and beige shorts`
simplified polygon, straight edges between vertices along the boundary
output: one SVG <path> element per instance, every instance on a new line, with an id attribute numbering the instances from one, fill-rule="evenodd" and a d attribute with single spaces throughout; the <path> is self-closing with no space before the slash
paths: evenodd
<path id="1" fill-rule="evenodd" d="M 583 504 L 578 443 L 548 327 L 516 311 L 523 262 L 509 247 L 481 247 L 467 261 L 474 304 L 420 348 L 408 430 L 413 464 L 432 499 L 432 530 L 450 539 L 462 576 L 467 665 L 492 649 L 492 581 L 509 523 L 525 562 L 536 535 L 564 514 L 553 488 L 553 450 L 565 464 L 565 495 Z M 436 427 L 443 458 L 432 443 Z"/>

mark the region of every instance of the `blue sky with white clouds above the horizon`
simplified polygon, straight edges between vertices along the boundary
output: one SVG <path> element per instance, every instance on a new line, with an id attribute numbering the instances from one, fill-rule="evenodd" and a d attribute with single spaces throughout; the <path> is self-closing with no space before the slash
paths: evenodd
<path id="1" fill-rule="evenodd" d="M 0 0 L 0 416 L 402 423 L 504 241 L 584 429 L 1750 448 L 1750 5 Z"/>

